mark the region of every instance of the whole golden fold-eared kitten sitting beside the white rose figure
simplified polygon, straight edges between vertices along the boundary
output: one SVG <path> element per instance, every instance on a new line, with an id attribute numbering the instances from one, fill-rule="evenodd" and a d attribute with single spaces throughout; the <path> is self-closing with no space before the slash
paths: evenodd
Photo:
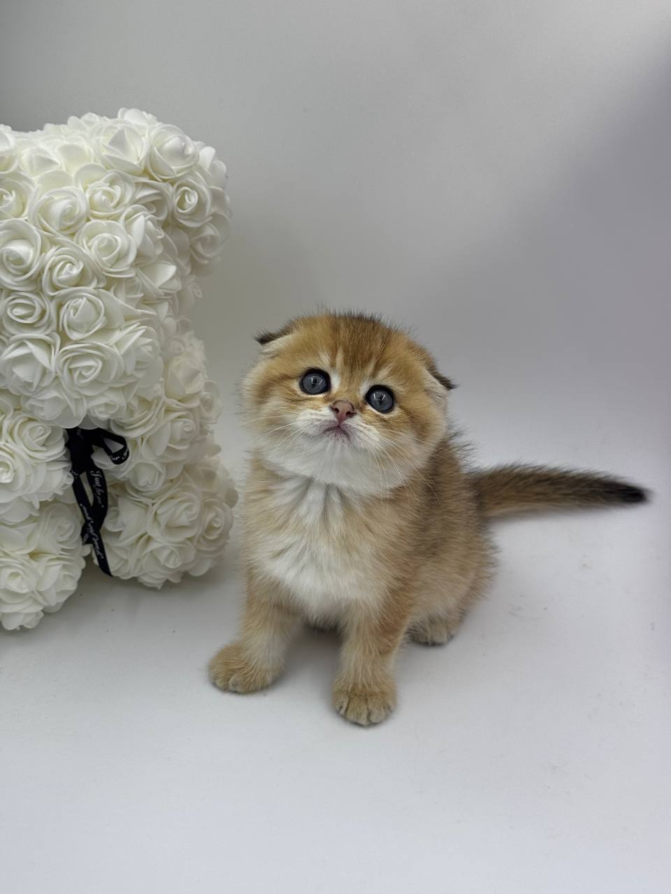
<path id="1" fill-rule="evenodd" d="M 209 665 L 222 689 L 269 686 L 302 621 L 337 627 L 335 710 L 378 723 L 395 707 L 403 640 L 446 643 L 487 585 L 491 516 L 646 499 L 597 474 L 463 468 L 446 420 L 452 384 L 378 319 L 305 317 L 258 341 L 243 386 L 247 601 L 239 637 Z"/>

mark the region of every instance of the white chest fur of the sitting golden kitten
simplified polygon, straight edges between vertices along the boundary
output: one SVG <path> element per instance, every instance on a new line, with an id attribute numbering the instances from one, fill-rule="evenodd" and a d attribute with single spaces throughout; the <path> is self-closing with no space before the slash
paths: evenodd
<path id="1" fill-rule="evenodd" d="M 309 613 L 337 614 L 352 600 L 375 597 L 372 544 L 352 536 L 352 517 L 365 511 L 357 499 L 303 477 L 278 479 L 264 494 L 272 522 L 256 516 L 253 559 Z"/>

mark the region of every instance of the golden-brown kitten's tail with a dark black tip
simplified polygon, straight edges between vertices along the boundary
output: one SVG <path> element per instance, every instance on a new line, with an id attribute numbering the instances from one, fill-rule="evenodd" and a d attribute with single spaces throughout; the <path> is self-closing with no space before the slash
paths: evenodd
<path id="1" fill-rule="evenodd" d="M 485 515 L 646 502 L 648 492 L 621 478 L 547 466 L 510 465 L 471 472 Z"/>

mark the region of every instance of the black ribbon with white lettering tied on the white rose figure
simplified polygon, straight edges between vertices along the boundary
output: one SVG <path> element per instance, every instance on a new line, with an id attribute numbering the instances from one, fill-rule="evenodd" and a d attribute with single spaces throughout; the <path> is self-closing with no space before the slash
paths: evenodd
<path id="1" fill-rule="evenodd" d="M 107 514 L 107 485 L 102 469 L 93 461 L 93 452 L 102 447 L 115 466 L 128 459 L 128 445 L 125 439 L 114 432 L 107 432 L 104 428 L 66 428 L 67 441 L 65 446 L 70 451 L 72 462 L 72 490 L 77 498 L 84 526 L 81 528 L 81 539 L 85 544 L 91 544 L 98 567 L 105 574 L 112 577 L 109 569 L 105 545 L 100 536 L 100 528 Z M 107 442 L 119 444 L 113 450 Z M 89 482 L 93 502 L 89 500 L 82 476 L 86 476 Z"/>

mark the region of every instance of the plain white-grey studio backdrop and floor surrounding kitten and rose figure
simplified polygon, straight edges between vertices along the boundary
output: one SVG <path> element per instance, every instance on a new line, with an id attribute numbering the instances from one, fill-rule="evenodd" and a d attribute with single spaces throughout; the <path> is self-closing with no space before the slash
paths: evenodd
<path id="1" fill-rule="evenodd" d="M 236 545 L 155 595 L 93 572 L 0 638 L 7 890 L 667 890 L 667 0 L 23 0 L 17 130 L 140 106 L 217 147 L 233 235 L 196 325 L 225 459 L 251 336 L 382 310 L 483 461 L 619 471 L 649 508 L 506 523 L 486 603 L 409 649 L 399 713 L 328 711 L 335 642 L 223 696 Z"/>

